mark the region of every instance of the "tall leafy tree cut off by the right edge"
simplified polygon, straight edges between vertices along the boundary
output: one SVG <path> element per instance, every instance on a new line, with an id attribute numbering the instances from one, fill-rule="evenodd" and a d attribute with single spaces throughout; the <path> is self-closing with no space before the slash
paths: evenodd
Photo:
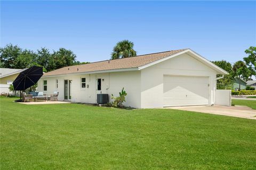
<path id="1" fill-rule="evenodd" d="M 249 54 L 247 57 L 244 58 L 246 65 L 248 66 L 250 73 L 250 79 L 252 76 L 256 76 L 256 47 L 251 46 L 247 50 L 245 50 L 246 54 Z"/>

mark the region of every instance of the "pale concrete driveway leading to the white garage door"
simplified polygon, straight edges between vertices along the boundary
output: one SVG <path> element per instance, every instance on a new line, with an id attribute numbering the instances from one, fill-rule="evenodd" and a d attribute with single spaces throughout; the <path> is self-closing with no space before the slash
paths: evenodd
<path id="1" fill-rule="evenodd" d="M 203 112 L 206 114 L 225 115 L 241 117 L 247 119 L 256 119 L 256 110 L 247 106 L 189 106 L 189 107 L 169 107 L 168 109 L 178 109 L 187 111 Z"/>

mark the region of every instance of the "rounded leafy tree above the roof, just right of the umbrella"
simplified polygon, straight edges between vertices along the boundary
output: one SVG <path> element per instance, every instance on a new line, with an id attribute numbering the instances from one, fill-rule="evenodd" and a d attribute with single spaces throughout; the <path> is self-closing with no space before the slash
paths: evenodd
<path id="1" fill-rule="evenodd" d="M 76 55 L 71 50 L 60 48 L 54 51 L 50 60 L 47 71 L 52 71 L 66 66 L 73 66 L 76 63 Z"/>

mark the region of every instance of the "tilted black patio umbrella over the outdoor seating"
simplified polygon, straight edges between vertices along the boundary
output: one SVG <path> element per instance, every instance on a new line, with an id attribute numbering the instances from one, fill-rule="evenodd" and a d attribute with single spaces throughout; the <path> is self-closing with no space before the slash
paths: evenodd
<path id="1" fill-rule="evenodd" d="M 14 90 L 24 91 L 28 87 L 35 85 L 43 76 L 43 67 L 32 66 L 22 72 L 15 78 L 13 84 Z M 21 98 L 21 96 L 20 96 Z"/>

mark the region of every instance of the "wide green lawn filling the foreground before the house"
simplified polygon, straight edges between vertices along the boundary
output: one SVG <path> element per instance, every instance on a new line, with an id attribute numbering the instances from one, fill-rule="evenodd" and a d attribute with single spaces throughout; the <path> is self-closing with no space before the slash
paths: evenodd
<path id="1" fill-rule="evenodd" d="M 256 169 L 256 120 L 1 100 L 1 169 Z"/>

